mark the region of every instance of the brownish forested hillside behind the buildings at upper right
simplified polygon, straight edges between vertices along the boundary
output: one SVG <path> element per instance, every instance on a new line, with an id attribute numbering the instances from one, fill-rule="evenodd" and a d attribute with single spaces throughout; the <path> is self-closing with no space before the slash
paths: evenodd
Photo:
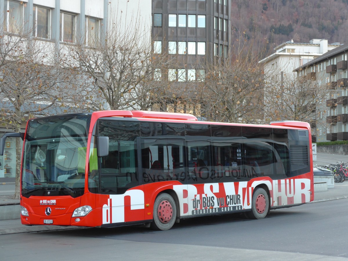
<path id="1" fill-rule="evenodd" d="M 234 52 L 259 58 L 291 39 L 348 42 L 348 0 L 231 0 Z"/>

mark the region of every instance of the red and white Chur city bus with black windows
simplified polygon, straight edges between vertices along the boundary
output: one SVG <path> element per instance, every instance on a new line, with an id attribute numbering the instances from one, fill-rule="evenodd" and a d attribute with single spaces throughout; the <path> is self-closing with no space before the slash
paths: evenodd
<path id="1" fill-rule="evenodd" d="M 191 114 L 97 111 L 31 119 L 22 136 L 25 225 L 170 229 L 189 217 L 314 199 L 306 122 L 197 121 Z"/>

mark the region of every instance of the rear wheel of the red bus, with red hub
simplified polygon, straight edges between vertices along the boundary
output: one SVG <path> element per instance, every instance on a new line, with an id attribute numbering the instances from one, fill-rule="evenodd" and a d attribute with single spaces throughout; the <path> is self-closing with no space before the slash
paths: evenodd
<path id="1" fill-rule="evenodd" d="M 256 188 L 253 193 L 251 211 L 248 216 L 251 219 L 263 219 L 270 211 L 269 196 L 263 188 Z"/>

